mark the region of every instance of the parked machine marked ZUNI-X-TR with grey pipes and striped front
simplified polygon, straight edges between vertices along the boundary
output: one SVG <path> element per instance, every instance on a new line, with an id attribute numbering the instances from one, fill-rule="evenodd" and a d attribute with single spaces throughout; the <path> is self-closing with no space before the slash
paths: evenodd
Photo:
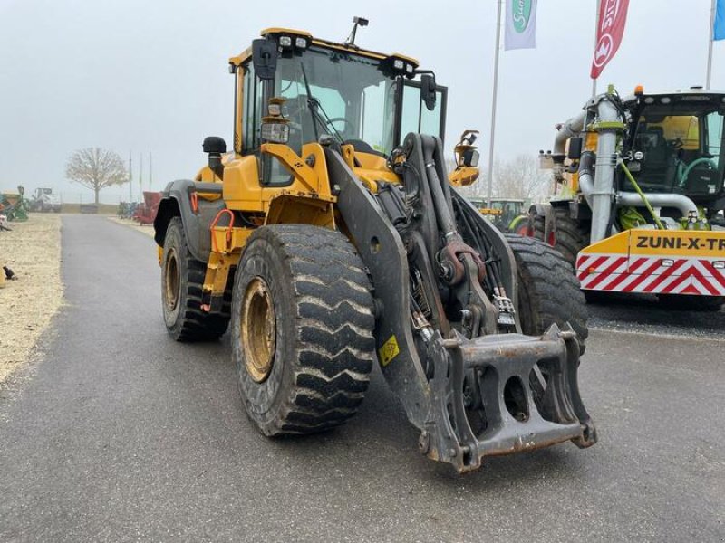
<path id="1" fill-rule="evenodd" d="M 725 93 L 621 99 L 614 88 L 558 129 L 550 205 L 534 235 L 575 264 L 585 291 L 646 292 L 674 308 L 725 300 Z M 720 215 L 721 216 L 721 215 Z"/>

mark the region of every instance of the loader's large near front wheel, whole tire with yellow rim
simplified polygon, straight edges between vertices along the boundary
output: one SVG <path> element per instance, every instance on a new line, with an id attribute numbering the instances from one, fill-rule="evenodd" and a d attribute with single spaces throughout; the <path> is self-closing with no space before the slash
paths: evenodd
<path id="1" fill-rule="evenodd" d="M 268 436 L 315 433 L 353 416 L 375 340 L 371 284 L 342 233 L 258 228 L 237 267 L 232 357 L 249 418 Z"/>

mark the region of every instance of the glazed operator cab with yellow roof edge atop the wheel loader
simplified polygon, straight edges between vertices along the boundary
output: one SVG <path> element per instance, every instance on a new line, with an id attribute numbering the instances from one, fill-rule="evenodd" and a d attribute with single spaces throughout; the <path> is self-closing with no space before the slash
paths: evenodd
<path id="1" fill-rule="evenodd" d="M 262 143 L 275 141 L 265 132 L 266 122 L 283 120 L 286 128 L 280 128 L 284 132 L 276 142 L 300 157 L 308 143 L 352 145 L 356 164 L 363 167 L 384 165 L 409 132 L 444 137 L 447 89 L 430 71 L 418 70 L 414 59 L 326 42 L 302 31 L 273 28 L 262 36 L 251 50 L 230 59 L 230 67 L 242 85 L 237 100 L 243 101 L 236 107 L 234 150 L 260 157 L 264 185 L 293 180 L 275 157 L 260 152 Z M 279 104 L 277 121 L 269 118 L 270 100 Z"/>

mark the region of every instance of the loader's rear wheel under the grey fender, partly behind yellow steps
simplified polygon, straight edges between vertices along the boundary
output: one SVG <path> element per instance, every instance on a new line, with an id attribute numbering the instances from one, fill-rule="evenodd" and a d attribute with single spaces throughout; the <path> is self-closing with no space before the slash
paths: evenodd
<path id="1" fill-rule="evenodd" d="M 201 310 L 207 265 L 191 256 L 181 217 L 169 222 L 161 262 L 161 306 L 169 335 L 177 341 L 220 338 L 229 324 L 231 291 L 225 294 L 226 315 Z"/>

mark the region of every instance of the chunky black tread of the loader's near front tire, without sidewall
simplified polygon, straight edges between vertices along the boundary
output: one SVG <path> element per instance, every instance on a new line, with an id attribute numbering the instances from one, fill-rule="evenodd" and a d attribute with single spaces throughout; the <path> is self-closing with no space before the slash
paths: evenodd
<path id="1" fill-rule="evenodd" d="M 375 360 L 372 285 L 342 233 L 301 224 L 266 227 L 295 291 L 295 382 L 266 435 L 316 433 L 350 419 L 362 404 Z M 250 239 L 249 243 L 252 243 Z M 259 424 L 257 424 L 259 425 Z"/>

